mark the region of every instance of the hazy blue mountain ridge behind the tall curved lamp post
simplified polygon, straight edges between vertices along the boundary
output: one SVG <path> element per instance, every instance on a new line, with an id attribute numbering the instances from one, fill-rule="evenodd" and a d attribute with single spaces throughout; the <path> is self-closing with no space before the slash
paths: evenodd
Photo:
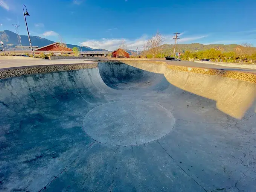
<path id="1" fill-rule="evenodd" d="M 27 35 L 21 35 L 21 44 L 23 46 L 29 46 L 29 40 Z M 54 41 L 48 40 L 46 38 L 41 38 L 38 36 L 30 36 L 32 46 L 38 46 L 38 47 L 43 47 L 52 43 L 55 43 Z M 18 45 L 18 40 L 17 40 L 17 34 L 10 31 L 10 30 L 3 30 L 0 31 L 0 41 L 3 41 L 5 49 L 9 48 L 14 48 L 15 46 Z M 81 47 L 78 45 L 72 45 L 72 44 L 67 44 L 67 47 L 73 48 L 73 47 L 78 47 L 79 50 L 81 50 Z M 91 51 L 94 50 L 91 47 L 83 46 L 82 51 Z M 98 50 L 98 49 L 97 49 Z M 105 49 L 102 49 L 105 50 Z"/>

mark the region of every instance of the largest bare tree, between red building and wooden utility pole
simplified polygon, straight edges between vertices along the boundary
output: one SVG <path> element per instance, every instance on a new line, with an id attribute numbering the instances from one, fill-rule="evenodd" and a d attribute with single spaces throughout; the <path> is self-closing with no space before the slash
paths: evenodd
<path id="1" fill-rule="evenodd" d="M 146 42 L 144 47 L 153 55 L 153 58 L 155 58 L 155 54 L 160 52 L 160 46 L 164 43 L 164 41 L 163 35 L 157 31 L 157 33 Z"/>

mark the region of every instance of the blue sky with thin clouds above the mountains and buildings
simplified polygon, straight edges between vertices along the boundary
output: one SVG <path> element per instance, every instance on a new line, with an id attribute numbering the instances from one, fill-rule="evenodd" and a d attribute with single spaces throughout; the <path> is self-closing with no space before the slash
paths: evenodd
<path id="1" fill-rule="evenodd" d="M 142 50 L 157 30 L 167 44 L 180 32 L 178 43 L 256 46 L 256 0 L 0 0 L 0 30 L 19 23 L 27 34 L 23 4 L 31 35 L 95 49 L 114 50 L 124 38 Z"/>

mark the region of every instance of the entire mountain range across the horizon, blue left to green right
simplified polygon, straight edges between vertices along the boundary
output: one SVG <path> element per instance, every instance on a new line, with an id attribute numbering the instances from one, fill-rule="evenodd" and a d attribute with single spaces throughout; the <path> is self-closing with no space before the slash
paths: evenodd
<path id="1" fill-rule="evenodd" d="M 27 35 L 21 35 L 21 44 L 23 46 L 29 46 L 29 40 Z M 54 41 L 48 40 L 46 38 L 41 38 L 38 36 L 30 36 L 31 42 L 33 46 L 38 46 L 38 47 L 43 47 L 52 43 L 55 43 Z M 5 49 L 9 48 L 14 48 L 15 46 L 18 45 L 18 40 L 17 40 L 17 34 L 10 31 L 10 30 L 3 30 L 0 31 L 0 41 L 3 41 Z M 176 52 L 181 52 L 184 53 L 186 50 L 189 50 L 191 52 L 198 52 L 201 50 L 207 50 L 211 48 L 215 48 L 218 50 L 221 50 L 222 52 L 229 52 L 233 51 L 234 48 L 238 46 L 238 44 L 209 44 L 209 45 L 204 45 L 200 43 L 191 43 L 191 44 L 177 44 L 176 46 Z M 72 44 L 67 44 L 67 47 L 73 48 L 73 47 L 78 47 L 79 50 L 81 50 L 81 47 L 78 45 L 72 45 Z M 166 53 L 167 55 L 172 55 L 173 53 L 173 44 L 163 44 L 160 46 L 160 49 L 163 50 L 163 53 Z M 93 49 L 91 47 L 83 46 L 82 51 L 108 51 L 106 49 Z M 251 50 L 253 52 L 256 52 L 256 47 L 251 47 Z M 128 53 L 131 54 L 131 50 L 126 50 Z M 146 52 L 146 51 L 144 51 Z M 137 52 L 133 50 L 133 55 L 137 55 Z"/>

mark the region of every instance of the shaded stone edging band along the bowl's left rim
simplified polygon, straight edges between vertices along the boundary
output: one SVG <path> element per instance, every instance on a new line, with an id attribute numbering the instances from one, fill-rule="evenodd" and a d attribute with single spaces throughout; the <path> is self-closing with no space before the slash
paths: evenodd
<path id="1" fill-rule="evenodd" d="M 96 67 L 98 67 L 98 63 L 96 62 L 83 63 L 83 64 L 61 64 L 61 65 L 48 65 L 48 66 L 44 65 L 44 66 L 15 67 L 10 69 L 1 69 L 0 79 L 7 79 L 7 78 L 17 77 L 22 75 L 88 69 L 88 68 L 96 68 Z"/>

